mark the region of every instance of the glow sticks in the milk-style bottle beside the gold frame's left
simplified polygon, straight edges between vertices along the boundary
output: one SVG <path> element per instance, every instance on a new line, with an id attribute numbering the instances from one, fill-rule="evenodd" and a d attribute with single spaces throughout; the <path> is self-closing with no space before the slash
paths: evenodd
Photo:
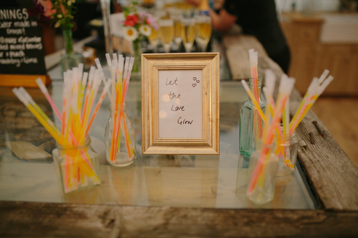
<path id="1" fill-rule="evenodd" d="M 123 55 L 113 54 L 111 60 L 110 54 L 106 54 L 107 64 L 110 67 L 112 77 L 112 93 L 108 94 L 111 98 L 112 106 L 112 122 L 113 132 L 110 148 L 110 163 L 116 162 L 117 152 L 120 147 L 121 130 L 124 133 L 126 150 L 128 153 L 128 160 L 131 161 L 134 158 L 134 146 L 130 140 L 127 123 L 124 117 L 123 103 L 127 95 L 129 80 L 134 63 L 134 57 L 126 57 Z M 97 67 L 100 68 L 100 62 L 98 59 L 95 60 Z"/>

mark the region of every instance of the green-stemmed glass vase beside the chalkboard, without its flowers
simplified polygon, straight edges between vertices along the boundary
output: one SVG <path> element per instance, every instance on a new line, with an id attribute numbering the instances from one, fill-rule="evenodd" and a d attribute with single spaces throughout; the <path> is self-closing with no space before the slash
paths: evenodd
<path id="1" fill-rule="evenodd" d="M 61 57 L 62 72 L 71 70 L 83 62 L 83 56 L 73 51 L 72 30 L 64 29 L 63 37 L 65 40 L 65 54 Z"/>

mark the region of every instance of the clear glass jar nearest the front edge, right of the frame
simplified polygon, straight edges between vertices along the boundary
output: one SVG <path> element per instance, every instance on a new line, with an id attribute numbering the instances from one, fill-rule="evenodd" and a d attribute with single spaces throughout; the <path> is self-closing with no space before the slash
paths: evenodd
<path id="1" fill-rule="evenodd" d="M 279 159 L 274 145 L 263 145 L 251 154 L 247 173 L 246 196 L 253 203 L 263 205 L 274 199 Z"/>

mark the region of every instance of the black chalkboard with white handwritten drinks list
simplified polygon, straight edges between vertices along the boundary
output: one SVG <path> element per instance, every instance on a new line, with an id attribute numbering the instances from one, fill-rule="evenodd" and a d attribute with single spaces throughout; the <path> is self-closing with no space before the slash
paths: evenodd
<path id="1" fill-rule="evenodd" d="M 46 75 L 41 29 L 28 13 L 33 0 L 5 2 L 0 3 L 0 74 Z"/>

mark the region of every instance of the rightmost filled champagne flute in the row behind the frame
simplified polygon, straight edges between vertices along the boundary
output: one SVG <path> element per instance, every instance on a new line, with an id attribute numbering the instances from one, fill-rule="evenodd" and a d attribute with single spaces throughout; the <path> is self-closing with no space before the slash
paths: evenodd
<path id="1" fill-rule="evenodd" d="M 202 48 L 202 52 L 205 52 L 211 37 L 211 17 L 206 15 L 200 15 L 197 16 L 195 20 L 195 29 L 197 33 L 197 38 L 199 39 L 199 45 Z"/>

